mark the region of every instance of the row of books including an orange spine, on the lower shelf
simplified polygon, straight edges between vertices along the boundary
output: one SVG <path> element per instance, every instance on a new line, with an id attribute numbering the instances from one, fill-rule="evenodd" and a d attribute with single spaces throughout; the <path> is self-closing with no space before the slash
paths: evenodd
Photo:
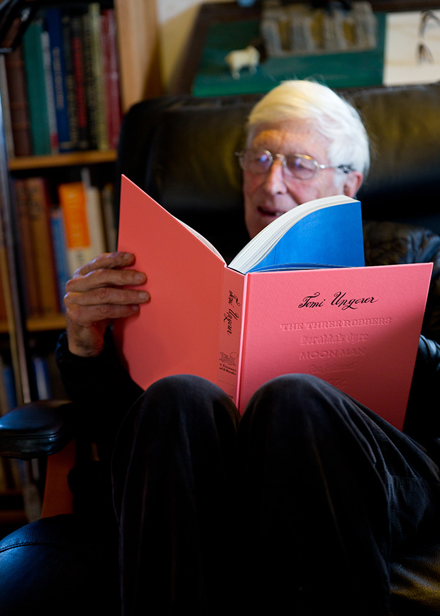
<path id="1" fill-rule="evenodd" d="M 59 314 L 75 270 L 116 248 L 114 187 L 93 186 L 87 170 L 81 181 L 57 187 L 40 176 L 16 178 L 13 187 L 26 314 Z"/>

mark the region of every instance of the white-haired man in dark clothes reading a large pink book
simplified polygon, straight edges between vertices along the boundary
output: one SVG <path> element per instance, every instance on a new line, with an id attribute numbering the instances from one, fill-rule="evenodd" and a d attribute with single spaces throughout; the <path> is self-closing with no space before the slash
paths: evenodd
<path id="1" fill-rule="evenodd" d="M 368 138 L 334 92 L 287 82 L 251 112 L 239 159 L 254 236 L 310 199 L 353 197 L 368 170 Z M 104 425 L 113 455 L 123 615 L 257 607 L 388 615 L 390 563 L 439 539 L 434 462 L 308 375 L 264 385 L 241 421 L 200 378 L 176 375 L 141 391 L 119 366 L 109 329 L 148 311 L 148 293 L 125 288 L 148 276 L 120 269 L 134 263 L 114 253 L 77 270 L 57 349 L 68 394 Z M 422 346 L 435 368 L 438 348 Z"/>

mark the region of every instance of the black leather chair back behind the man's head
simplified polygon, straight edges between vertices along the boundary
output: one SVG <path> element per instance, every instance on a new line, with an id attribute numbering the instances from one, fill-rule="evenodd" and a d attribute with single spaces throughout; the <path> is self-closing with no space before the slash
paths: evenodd
<path id="1" fill-rule="evenodd" d="M 364 218 L 440 233 L 440 83 L 341 94 L 360 111 L 371 141 L 370 174 L 358 194 Z M 165 96 L 136 104 L 123 121 L 118 176 L 194 226 L 226 260 L 248 239 L 234 153 L 259 98 Z"/>

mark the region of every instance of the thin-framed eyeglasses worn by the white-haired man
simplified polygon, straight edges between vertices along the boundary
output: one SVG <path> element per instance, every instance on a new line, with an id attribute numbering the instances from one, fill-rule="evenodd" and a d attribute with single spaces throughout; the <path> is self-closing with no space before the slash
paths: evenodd
<path id="1" fill-rule="evenodd" d="M 267 173 L 274 160 L 280 160 L 285 174 L 297 180 L 312 180 L 321 169 L 340 169 L 344 173 L 353 171 L 351 165 L 319 165 L 307 154 L 274 154 L 269 150 L 241 150 L 236 152 L 241 168 L 251 173 Z"/>

